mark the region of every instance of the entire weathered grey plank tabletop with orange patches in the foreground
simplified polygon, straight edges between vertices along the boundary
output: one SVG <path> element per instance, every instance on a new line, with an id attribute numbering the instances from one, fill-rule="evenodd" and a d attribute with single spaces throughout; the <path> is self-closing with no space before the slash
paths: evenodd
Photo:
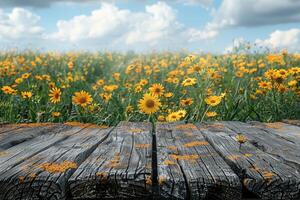
<path id="1" fill-rule="evenodd" d="M 0 200 L 299 199 L 294 122 L 156 125 L 0 125 Z"/>

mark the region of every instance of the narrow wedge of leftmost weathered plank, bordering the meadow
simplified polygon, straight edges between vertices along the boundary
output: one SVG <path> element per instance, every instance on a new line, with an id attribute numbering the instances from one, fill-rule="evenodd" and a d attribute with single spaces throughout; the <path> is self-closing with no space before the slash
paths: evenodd
<path id="1" fill-rule="evenodd" d="M 0 134 L 0 151 L 4 151 L 39 135 L 57 132 L 65 128 L 66 126 L 60 124 L 40 124 L 38 127 L 20 125 L 18 128 L 16 127 L 16 129 Z M 0 128 L 0 130 L 2 129 Z"/>

